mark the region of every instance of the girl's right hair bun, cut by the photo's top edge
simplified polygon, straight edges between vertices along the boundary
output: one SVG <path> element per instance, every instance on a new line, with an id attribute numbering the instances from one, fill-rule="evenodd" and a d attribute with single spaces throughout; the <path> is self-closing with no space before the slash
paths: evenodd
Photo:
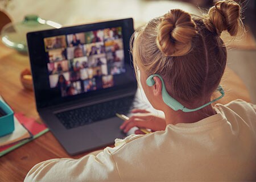
<path id="1" fill-rule="evenodd" d="M 204 19 L 205 26 L 219 36 L 224 30 L 227 30 L 231 36 L 236 36 L 238 30 L 243 27 L 240 10 L 240 5 L 233 0 L 218 1 L 209 9 Z"/>

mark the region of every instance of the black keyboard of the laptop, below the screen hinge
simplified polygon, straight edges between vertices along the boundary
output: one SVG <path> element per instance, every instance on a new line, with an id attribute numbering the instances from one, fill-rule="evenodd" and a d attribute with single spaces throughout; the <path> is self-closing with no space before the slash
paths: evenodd
<path id="1" fill-rule="evenodd" d="M 137 100 L 134 96 L 130 96 L 63 111 L 61 113 L 56 113 L 55 115 L 66 129 L 73 129 L 75 127 L 115 117 L 115 113 L 127 114 L 131 109 L 134 109 L 134 107 L 145 108 L 145 105 L 147 104 Z"/>

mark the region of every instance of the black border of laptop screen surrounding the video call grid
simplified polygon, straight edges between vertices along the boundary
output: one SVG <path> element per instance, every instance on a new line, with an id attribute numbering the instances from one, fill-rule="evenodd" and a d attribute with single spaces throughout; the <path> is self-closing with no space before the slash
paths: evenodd
<path id="1" fill-rule="evenodd" d="M 101 30 L 104 28 L 111 27 L 122 27 L 122 36 L 123 36 L 123 49 L 125 53 L 125 69 L 126 72 L 122 75 L 116 75 L 118 80 L 123 80 L 122 85 L 114 85 L 111 88 L 95 90 L 93 92 L 82 93 L 76 96 L 70 97 L 59 97 L 57 96 L 57 90 L 49 88 L 48 72 L 47 72 L 47 63 L 46 63 L 46 52 L 44 49 L 44 38 L 58 36 L 58 35 L 68 35 L 76 34 L 79 32 Z M 36 100 L 37 109 L 41 109 L 48 106 L 54 106 L 63 104 L 66 102 L 89 98 L 92 96 L 101 96 L 118 89 L 125 88 L 134 88 L 137 89 L 137 81 L 134 76 L 134 69 L 131 67 L 130 53 L 129 53 L 129 42 L 130 37 L 134 32 L 133 19 L 120 19 L 112 20 L 108 22 L 84 24 L 80 26 L 73 27 L 64 27 L 59 29 L 44 30 L 37 32 L 28 32 L 27 33 L 27 45 L 28 52 L 30 56 L 30 65 L 31 72 L 34 83 L 34 93 Z"/>

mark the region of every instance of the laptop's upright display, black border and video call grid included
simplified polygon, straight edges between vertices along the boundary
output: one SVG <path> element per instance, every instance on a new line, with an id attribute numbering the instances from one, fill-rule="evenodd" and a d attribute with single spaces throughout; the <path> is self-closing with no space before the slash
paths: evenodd
<path id="1" fill-rule="evenodd" d="M 129 18 L 28 33 L 37 108 L 136 89 L 133 32 Z"/>

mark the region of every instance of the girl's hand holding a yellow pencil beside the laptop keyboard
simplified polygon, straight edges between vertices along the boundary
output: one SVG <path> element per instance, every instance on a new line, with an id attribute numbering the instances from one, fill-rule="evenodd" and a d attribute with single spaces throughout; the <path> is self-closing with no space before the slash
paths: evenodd
<path id="1" fill-rule="evenodd" d="M 166 129 L 166 120 L 164 118 L 156 117 L 144 109 L 134 109 L 133 114 L 128 120 L 122 123 L 120 129 L 127 133 L 134 126 L 151 129 L 154 131 L 161 131 Z M 144 134 L 141 130 L 136 130 L 135 134 Z"/>

